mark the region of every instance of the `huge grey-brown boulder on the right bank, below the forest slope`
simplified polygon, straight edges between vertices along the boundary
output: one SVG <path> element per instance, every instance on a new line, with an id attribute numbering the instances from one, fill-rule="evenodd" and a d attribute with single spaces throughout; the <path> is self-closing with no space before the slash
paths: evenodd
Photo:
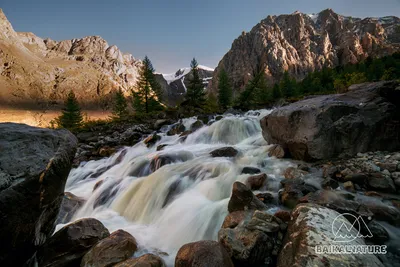
<path id="1" fill-rule="evenodd" d="M 383 81 L 305 99 L 261 120 L 265 140 L 300 160 L 400 149 L 400 84 Z"/>

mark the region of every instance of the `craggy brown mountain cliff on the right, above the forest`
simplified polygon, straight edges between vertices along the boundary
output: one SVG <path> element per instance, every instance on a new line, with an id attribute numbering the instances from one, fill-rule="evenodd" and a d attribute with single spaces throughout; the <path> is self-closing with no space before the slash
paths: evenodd
<path id="1" fill-rule="evenodd" d="M 307 15 L 268 16 L 250 32 L 243 32 L 219 62 L 209 89 L 216 92 L 219 70 L 224 68 L 236 90 L 257 71 L 270 82 L 284 71 L 296 79 L 322 67 L 357 63 L 400 50 L 400 19 L 352 18 L 331 9 Z"/>

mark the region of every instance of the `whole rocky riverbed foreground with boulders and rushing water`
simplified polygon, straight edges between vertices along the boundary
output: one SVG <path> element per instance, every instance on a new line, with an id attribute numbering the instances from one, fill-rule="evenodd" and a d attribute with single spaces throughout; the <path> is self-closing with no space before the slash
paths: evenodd
<path id="1" fill-rule="evenodd" d="M 0 124 L 0 263 L 398 266 L 398 88 L 368 84 L 273 111 L 159 118 L 77 139 Z M 387 253 L 316 250 L 346 235 L 346 245 Z"/>

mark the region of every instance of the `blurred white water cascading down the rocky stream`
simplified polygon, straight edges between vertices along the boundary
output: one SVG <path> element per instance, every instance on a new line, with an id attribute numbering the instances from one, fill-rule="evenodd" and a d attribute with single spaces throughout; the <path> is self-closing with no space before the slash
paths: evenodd
<path id="1" fill-rule="evenodd" d="M 183 244 L 217 239 L 233 183 L 250 176 L 241 174 L 243 167 L 267 173 L 268 188 L 263 191 L 277 192 L 280 173 L 292 163 L 268 157 L 259 125 L 268 112 L 226 115 L 184 141 L 160 133 L 161 140 L 152 148 L 140 142 L 110 158 L 81 164 L 71 171 L 65 190 L 87 200 L 73 220 L 94 217 L 110 232 L 124 229 L 137 239 L 139 253 L 166 252 L 167 264 L 173 265 Z M 194 121 L 182 123 L 188 129 Z M 160 144 L 167 146 L 156 151 Z M 239 154 L 210 156 L 224 146 L 233 146 Z M 93 191 L 99 181 L 103 183 Z"/>

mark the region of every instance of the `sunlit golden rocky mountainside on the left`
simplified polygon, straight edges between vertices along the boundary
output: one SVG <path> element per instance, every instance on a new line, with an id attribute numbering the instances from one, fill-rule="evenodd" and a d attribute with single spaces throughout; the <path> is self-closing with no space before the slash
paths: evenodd
<path id="1" fill-rule="evenodd" d="M 62 102 L 73 90 L 98 107 L 136 84 L 140 64 L 99 36 L 57 42 L 17 33 L 0 9 L 0 104 Z"/>

